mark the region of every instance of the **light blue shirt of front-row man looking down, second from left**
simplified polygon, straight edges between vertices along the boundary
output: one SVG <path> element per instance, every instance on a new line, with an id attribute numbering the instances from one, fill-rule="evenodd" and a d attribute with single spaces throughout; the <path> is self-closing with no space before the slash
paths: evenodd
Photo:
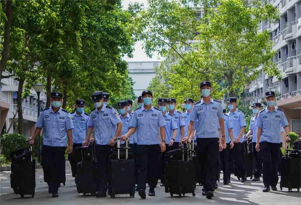
<path id="1" fill-rule="evenodd" d="M 100 111 L 95 108 L 88 120 L 88 126 L 94 128 L 95 144 L 109 144 L 110 139 L 116 134 L 116 131 L 113 131 L 113 125 L 117 125 L 119 122 L 121 120 L 113 107 L 103 105 Z"/>

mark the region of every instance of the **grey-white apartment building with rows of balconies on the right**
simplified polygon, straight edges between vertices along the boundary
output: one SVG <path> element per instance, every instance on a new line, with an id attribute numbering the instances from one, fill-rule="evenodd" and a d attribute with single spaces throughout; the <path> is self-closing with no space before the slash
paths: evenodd
<path id="1" fill-rule="evenodd" d="M 268 30 L 271 34 L 275 56 L 271 59 L 282 73 L 281 80 L 268 76 L 257 68 L 260 74 L 250 83 L 250 95 L 245 98 L 245 104 L 261 102 L 265 92 L 274 91 L 276 106 L 284 110 L 290 123 L 290 130 L 301 136 L 301 1 L 300 0 L 270 0 L 280 12 L 276 22 L 262 21 L 259 31 Z"/>

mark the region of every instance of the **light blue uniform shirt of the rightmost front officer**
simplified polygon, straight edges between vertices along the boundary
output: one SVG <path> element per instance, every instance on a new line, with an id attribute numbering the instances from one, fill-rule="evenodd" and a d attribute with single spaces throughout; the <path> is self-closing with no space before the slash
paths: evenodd
<path id="1" fill-rule="evenodd" d="M 268 108 L 261 110 L 256 122 L 257 127 L 262 127 L 260 141 L 267 141 L 271 143 L 281 143 L 281 126 L 288 125 L 284 112 L 275 107 L 271 113 Z"/>

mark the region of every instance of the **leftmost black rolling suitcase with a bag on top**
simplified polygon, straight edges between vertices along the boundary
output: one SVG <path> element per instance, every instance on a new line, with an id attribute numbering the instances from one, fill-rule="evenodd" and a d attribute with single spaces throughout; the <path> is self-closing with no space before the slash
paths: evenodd
<path id="1" fill-rule="evenodd" d="M 36 160 L 33 159 L 32 146 L 13 151 L 11 157 L 11 188 L 15 194 L 31 195 L 36 188 Z"/>

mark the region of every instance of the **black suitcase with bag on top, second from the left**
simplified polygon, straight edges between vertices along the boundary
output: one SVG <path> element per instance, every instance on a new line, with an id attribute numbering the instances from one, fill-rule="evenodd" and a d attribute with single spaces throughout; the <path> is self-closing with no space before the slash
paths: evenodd
<path id="1" fill-rule="evenodd" d="M 88 193 L 94 195 L 96 192 L 96 171 L 95 163 L 97 162 L 95 156 L 94 144 L 88 144 L 85 147 L 78 147 L 82 155 L 82 161 L 77 163 L 76 171 L 76 189 L 78 193 L 83 193 L 84 196 Z"/>

